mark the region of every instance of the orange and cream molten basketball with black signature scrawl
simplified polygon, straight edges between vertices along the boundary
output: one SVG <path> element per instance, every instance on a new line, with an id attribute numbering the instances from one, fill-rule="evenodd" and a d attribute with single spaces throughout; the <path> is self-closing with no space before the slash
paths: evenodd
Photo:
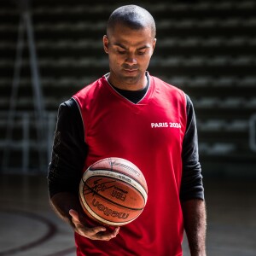
<path id="1" fill-rule="evenodd" d="M 108 226 L 131 223 L 143 212 L 147 199 L 143 172 L 117 157 L 96 161 L 84 172 L 79 184 L 84 212 Z"/>

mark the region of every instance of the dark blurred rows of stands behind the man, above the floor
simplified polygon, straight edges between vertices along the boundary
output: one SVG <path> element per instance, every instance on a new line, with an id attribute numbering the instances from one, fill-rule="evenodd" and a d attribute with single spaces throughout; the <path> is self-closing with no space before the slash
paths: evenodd
<path id="1" fill-rule="evenodd" d="M 158 40 L 149 73 L 181 88 L 194 102 L 204 175 L 255 177 L 256 3 L 250 0 L 33 1 L 30 14 L 44 96 L 43 141 L 38 140 L 38 98 L 26 33 L 9 128 L 20 8 L 15 1 L 1 1 L 0 158 L 5 162 L 0 172 L 46 172 L 58 106 L 108 73 L 102 49 L 106 20 L 113 9 L 130 3 L 148 9 L 156 21 Z M 8 140 L 7 130 L 12 131 Z"/>

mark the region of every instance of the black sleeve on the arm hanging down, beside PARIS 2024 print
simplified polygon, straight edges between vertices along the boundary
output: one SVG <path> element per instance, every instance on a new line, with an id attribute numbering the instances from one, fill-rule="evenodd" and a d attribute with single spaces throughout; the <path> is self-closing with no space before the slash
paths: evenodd
<path id="1" fill-rule="evenodd" d="M 198 138 L 195 111 L 189 96 L 187 98 L 187 128 L 183 138 L 183 176 L 180 190 L 181 201 L 204 200 L 201 165 L 198 155 Z"/>

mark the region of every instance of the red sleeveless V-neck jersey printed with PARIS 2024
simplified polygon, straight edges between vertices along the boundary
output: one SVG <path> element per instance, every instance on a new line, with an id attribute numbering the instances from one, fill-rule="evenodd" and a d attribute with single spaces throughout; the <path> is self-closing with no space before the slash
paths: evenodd
<path id="1" fill-rule="evenodd" d="M 148 183 L 143 213 L 110 241 L 92 241 L 76 233 L 78 255 L 182 255 L 179 192 L 186 98 L 171 84 L 149 79 L 148 91 L 137 104 L 121 96 L 105 77 L 73 96 L 89 148 L 84 171 L 96 160 L 120 157 L 137 165 Z"/>

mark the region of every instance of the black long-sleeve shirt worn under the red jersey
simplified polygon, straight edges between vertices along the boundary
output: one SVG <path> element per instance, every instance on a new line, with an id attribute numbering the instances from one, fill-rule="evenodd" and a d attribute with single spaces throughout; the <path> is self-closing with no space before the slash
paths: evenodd
<path id="1" fill-rule="evenodd" d="M 117 89 L 116 89 L 117 90 Z M 138 102 L 144 90 L 118 90 L 131 102 Z M 193 104 L 187 99 L 187 127 L 183 138 L 183 177 L 180 190 L 181 201 L 204 199 L 201 165 L 198 157 L 198 142 Z M 60 105 L 55 129 L 52 159 L 49 163 L 49 195 L 59 192 L 79 193 L 79 182 L 84 168 L 87 145 L 84 143 L 84 127 L 79 107 L 73 99 Z"/>

